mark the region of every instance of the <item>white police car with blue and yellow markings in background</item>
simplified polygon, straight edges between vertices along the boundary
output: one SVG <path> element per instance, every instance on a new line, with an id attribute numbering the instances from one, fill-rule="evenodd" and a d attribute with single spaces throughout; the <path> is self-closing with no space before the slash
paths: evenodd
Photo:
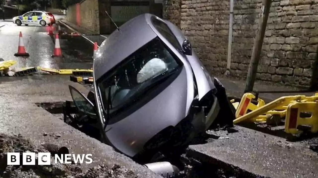
<path id="1" fill-rule="evenodd" d="M 29 11 L 21 16 L 15 16 L 12 18 L 13 23 L 20 26 L 21 24 L 24 25 L 37 25 L 40 24 L 41 26 L 49 25 L 51 23 L 51 19 L 53 17 L 48 14 L 46 11 L 34 10 Z"/>

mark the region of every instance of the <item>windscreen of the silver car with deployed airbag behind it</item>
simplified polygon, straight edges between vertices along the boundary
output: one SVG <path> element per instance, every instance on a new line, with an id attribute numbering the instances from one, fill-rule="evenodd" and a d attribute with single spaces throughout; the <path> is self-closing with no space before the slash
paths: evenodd
<path id="1" fill-rule="evenodd" d="M 109 115 L 126 109 L 182 66 L 182 62 L 156 37 L 123 60 L 107 75 L 109 77 L 97 81 L 105 113 L 108 113 L 107 109 Z"/>

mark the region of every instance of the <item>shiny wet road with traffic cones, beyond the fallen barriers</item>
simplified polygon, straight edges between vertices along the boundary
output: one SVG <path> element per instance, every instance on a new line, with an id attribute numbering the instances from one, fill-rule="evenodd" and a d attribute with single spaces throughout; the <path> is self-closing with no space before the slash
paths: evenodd
<path id="1" fill-rule="evenodd" d="M 56 20 L 63 16 L 55 16 Z M 4 26 L 3 26 L 4 25 Z M 54 33 L 57 32 L 57 24 L 53 25 Z M 63 32 L 71 33 L 69 29 L 61 26 Z M 26 57 L 16 57 L 19 32 L 22 32 L 26 51 L 30 54 Z M 80 36 L 60 36 L 62 58 L 52 58 L 55 36 L 48 35 L 49 27 L 45 26 L 17 26 L 12 22 L 0 22 L 0 58 L 4 60 L 17 60 L 12 67 L 47 67 L 47 68 L 90 68 L 93 65 L 93 45 Z"/>

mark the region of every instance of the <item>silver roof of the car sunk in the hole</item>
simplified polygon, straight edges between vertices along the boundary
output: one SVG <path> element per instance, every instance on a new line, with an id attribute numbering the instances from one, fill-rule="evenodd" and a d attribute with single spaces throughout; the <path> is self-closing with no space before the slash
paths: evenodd
<path id="1" fill-rule="evenodd" d="M 130 19 L 100 45 L 94 59 L 96 79 L 157 36 L 148 24 L 151 16 L 147 13 Z"/>

